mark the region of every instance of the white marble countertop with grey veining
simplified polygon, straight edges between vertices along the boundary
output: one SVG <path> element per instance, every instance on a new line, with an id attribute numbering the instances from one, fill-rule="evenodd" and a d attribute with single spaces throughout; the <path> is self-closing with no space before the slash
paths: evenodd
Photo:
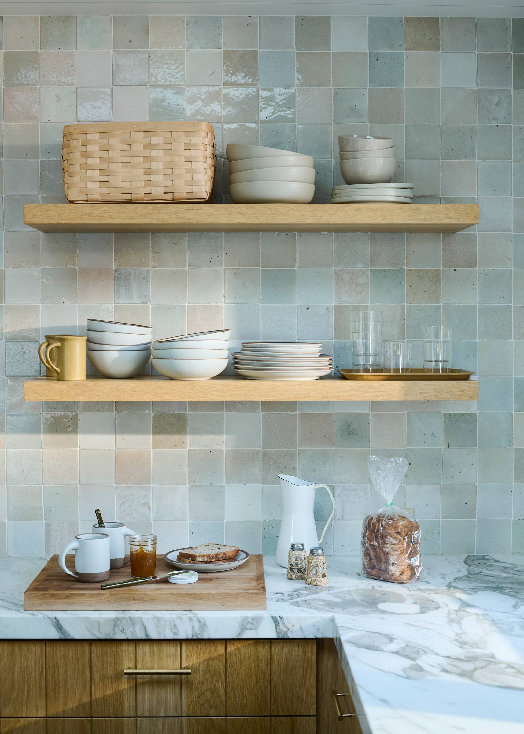
<path id="1" fill-rule="evenodd" d="M 0 638 L 333 637 L 364 734 L 522 734 L 524 556 L 425 556 L 412 586 L 330 558 L 330 584 L 264 559 L 266 611 L 23 611 L 45 559 L 0 562 Z"/>

